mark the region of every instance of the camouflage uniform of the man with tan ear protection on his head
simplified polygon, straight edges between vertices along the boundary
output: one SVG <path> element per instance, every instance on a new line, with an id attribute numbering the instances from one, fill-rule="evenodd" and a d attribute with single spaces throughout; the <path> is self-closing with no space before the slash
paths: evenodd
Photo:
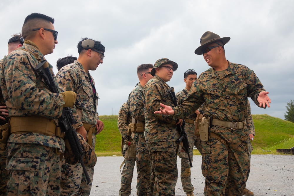
<path id="1" fill-rule="evenodd" d="M 74 91 L 77 95 L 76 103 L 74 107 L 71 108 L 75 118 L 75 122 L 72 126 L 75 129 L 81 127 L 83 123 L 95 126 L 99 119 L 97 113 L 98 93 L 96 92 L 95 83 L 90 73 L 87 74 L 85 72 L 85 69 L 80 62 L 74 61 L 74 63 L 62 67 L 56 74 L 56 78 L 61 88 L 65 91 Z M 95 149 L 95 133 L 92 134 L 92 140 L 92 148 Z M 61 187 L 64 189 L 64 194 L 68 195 L 66 192 L 76 192 L 78 190 L 77 195 L 90 195 L 94 167 L 86 167 L 91 179 L 90 183 L 87 182 L 80 163 L 77 165 L 63 165 L 62 167 L 67 168 L 66 171 L 62 171 L 64 172 L 62 174 L 64 179 L 61 179 Z M 77 184 L 80 178 L 81 185 L 78 187 Z M 69 184 L 67 184 L 68 179 L 71 179 Z M 72 184 L 71 182 L 74 182 L 75 180 L 77 182 Z M 74 188 L 74 190 L 72 190 L 72 188 Z"/>

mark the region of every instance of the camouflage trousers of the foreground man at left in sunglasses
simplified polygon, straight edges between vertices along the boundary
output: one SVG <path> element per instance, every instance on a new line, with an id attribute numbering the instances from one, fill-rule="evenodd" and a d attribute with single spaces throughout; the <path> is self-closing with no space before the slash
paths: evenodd
<path id="1" fill-rule="evenodd" d="M 60 156 L 56 149 L 7 143 L 7 195 L 60 195 Z"/>

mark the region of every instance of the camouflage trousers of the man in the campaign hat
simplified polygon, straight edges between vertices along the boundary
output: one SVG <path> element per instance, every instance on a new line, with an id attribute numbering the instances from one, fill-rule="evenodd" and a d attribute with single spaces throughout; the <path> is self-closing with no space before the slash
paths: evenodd
<path id="1" fill-rule="evenodd" d="M 205 195 L 242 196 L 250 171 L 247 133 L 247 130 L 224 131 L 227 147 L 215 138 L 202 142 Z"/>

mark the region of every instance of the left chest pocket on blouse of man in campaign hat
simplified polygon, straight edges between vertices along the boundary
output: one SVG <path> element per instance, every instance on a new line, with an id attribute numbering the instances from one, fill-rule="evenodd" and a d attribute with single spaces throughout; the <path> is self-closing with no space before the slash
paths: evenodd
<path id="1" fill-rule="evenodd" d="M 208 86 L 206 91 L 206 103 L 208 107 L 218 110 L 220 108 L 220 102 L 223 101 L 223 92 L 217 89 L 215 86 Z"/>

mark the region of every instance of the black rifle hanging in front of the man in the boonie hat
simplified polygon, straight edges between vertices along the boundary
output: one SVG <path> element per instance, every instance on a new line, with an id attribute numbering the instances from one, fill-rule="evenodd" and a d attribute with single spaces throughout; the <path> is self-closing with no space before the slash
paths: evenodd
<path id="1" fill-rule="evenodd" d="M 171 88 L 169 88 L 167 90 L 167 93 L 171 95 L 171 100 L 173 101 L 173 105 L 177 106 L 178 102 L 177 102 L 177 99 L 176 99 L 175 89 L 173 87 L 171 87 Z M 178 143 L 180 143 L 182 141 L 183 148 L 184 148 L 185 152 L 188 154 L 190 167 L 193 167 L 192 166 L 192 161 L 191 161 L 191 158 L 190 158 L 190 144 L 189 144 L 187 133 L 185 131 L 185 120 L 184 119 L 183 119 L 182 125 L 177 124 L 177 130 L 180 132 L 180 138 L 178 138 L 176 140 L 176 143 L 178 144 Z"/>

